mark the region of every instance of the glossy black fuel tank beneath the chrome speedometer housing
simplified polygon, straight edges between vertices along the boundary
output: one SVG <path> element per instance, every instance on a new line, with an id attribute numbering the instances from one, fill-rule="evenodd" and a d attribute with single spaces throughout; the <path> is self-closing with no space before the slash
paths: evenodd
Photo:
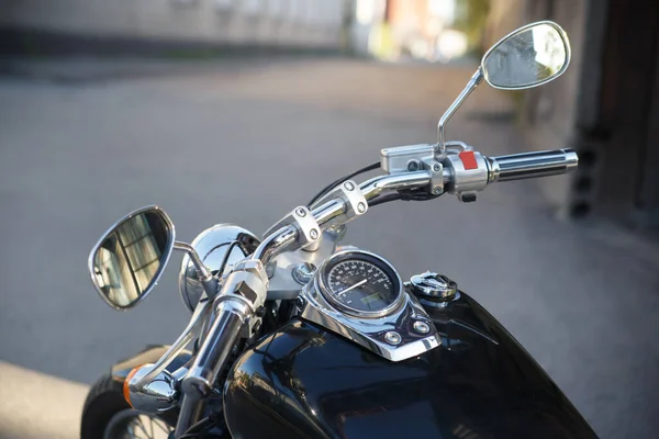
<path id="1" fill-rule="evenodd" d="M 545 371 L 476 301 L 431 308 L 442 347 L 393 363 L 293 320 L 225 386 L 235 438 L 593 438 Z"/>

